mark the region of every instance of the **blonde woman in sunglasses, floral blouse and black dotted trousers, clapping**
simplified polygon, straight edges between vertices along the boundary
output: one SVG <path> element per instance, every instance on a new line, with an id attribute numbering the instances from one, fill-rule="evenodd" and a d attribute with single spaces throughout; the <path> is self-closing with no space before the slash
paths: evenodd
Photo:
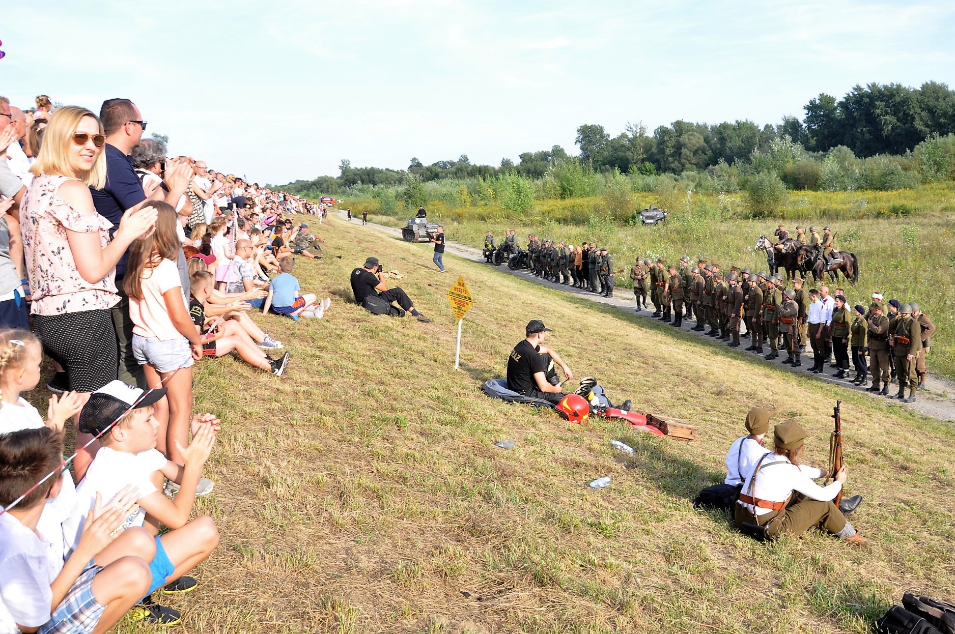
<path id="1" fill-rule="evenodd" d="M 44 351 L 63 366 L 67 389 L 78 392 L 96 391 L 117 378 L 110 313 L 119 302 L 116 264 L 131 243 L 152 231 L 157 216 L 154 207 L 134 207 L 110 240 L 113 225 L 96 213 L 90 194 L 106 181 L 105 142 L 92 112 L 57 108 L 32 164 L 35 178 L 21 211 L 33 330 Z M 89 440 L 83 435 L 77 433 L 77 446 Z M 77 456 L 77 479 L 93 453 Z"/>

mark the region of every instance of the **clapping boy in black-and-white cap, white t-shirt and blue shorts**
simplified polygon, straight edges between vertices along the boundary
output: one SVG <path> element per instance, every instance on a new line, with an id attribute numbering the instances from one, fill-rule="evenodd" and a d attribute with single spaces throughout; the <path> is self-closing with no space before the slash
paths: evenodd
<path id="1" fill-rule="evenodd" d="M 121 526 L 145 525 L 153 535 L 159 533 L 160 522 L 172 529 L 156 538 L 147 594 L 163 586 L 163 594 L 195 589 L 196 581 L 182 575 L 205 560 L 219 543 L 212 518 L 202 516 L 189 521 L 202 466 L 219 432 L 219 419 L 208 413 L 193 416 L 189 446 L 183 448 L 174 440 L 184 464 L 167 460 L 156 450 L 159 422 L 153 417 L 153 406 L 165 392 L 142 391 L 113 381 L 90 394 L 79 414 L 78 429 L 98 435 L 101 447 L 76 486 L 74 517 L 64 523 L 66 539 L 73 540 L 76 547 L 96 497 L 111 499 L 123 487 L 134 487 L 137 504 L 129 509 Z M 163 495 L 163 476 L 180 485 L 175 499 Z"/>

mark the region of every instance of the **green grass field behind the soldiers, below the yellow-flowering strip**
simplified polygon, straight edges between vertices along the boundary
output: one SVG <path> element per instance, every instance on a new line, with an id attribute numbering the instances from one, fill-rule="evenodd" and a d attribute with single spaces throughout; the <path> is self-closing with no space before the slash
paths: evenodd
<path id="1" fill-rule="evenodd" d="M 373 222 L 392 226 L 403 225 L 399 219 L 372 216 Z M 434 222 L 446 222 L 435 217 Z M 668 263 L 681 256 L 690 256 L 693 264 L 698 258 L 721 264 L 729 269 L 732 264 L 766 269 L 766 255 L 754 252 L 756 239 L 765 234 L 772 237 L 774 221 L 711 221 L 701 217 L 677 216 L 659 226 L 626 226 L 616 222 L 590 222 L 586 225 L 564 225 L 556 222 L 446 222 L 448 240 L 480 247 L 488 229 L 501 240 L 504 229 L 518 232 L 520 245 L 526 246 L 527 234 L 541 238 L 564 240 L 580 244 L 584 240 L 606 245 L 617 268 L 629 270 L 636 256 L 663 257 Z M 795 236 L 795 225 L 787 227 Z M 814 222 L 821 235 L 823 224 Z M 809 222 L 803 222 L 808 226 Z M 932 338 L 927 357 L 930 372 L 955 378 L 955 211 L 925 212 L 907 218 L 887 216 L 832 223 L 837 232 L 837 245 L 853 252 L 859 258 L 859 284 L 848 285 L 844 278 L 838 284 L 846 290 L 850 306 L 868 306 L 873 291 L 885 294 L 885 299 L 896 297 L 902 302 L 915 301 L 938 328 Z M 625 275 L 617 276 L 617 283 L 630 286 Z"/>

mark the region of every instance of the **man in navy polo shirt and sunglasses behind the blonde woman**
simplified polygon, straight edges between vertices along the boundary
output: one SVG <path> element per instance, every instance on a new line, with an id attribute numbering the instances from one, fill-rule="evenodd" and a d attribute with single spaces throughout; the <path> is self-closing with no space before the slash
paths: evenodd
<path id="1" fill-rule="evenodd" d="M 167 163 L 165 183 L 169 191 L 159 189 L 159 183 L 143 184 L 135 171 L 130 153 L 139 146 L 146 121 L 139 109 L 129 99 L 107 99 L 99 110 L 99 119 L 106 133 L 106 186 L 90 188 L 96 212 L 113 222 L 113 230 L 119 226 L 123 214 L 137 210 L 147 199 L 165 200 L 174 207 L 185 194 L 192 177 L 192 168 L 182 163 Z M 164 196 L 163 196 L 164 194 Z M 112 232 L 111 232 L 112 235 Z M 117 263 L 117 290 L 122 298 L 113 306 L 113 324 L 117 330 L 119 348 L 119 380 L 128 385 L 146 389 L 146 377 L 133 356 L 133 322 L 129 317 L 129 299 L 123 291 L 126 275 L 126 255 Z"/>

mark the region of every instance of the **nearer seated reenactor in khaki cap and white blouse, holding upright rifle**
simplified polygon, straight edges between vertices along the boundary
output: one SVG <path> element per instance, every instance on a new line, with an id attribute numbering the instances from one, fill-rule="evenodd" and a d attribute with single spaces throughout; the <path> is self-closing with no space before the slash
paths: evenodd
<path id="1" fill-rule="evenodd" d="M 736 502 L 736 527 L 758 524 L 769 538 L 802 535 L 816 526 L 849 543 L 861 545 L 861 537 L 833 501 L 846 480 L 845 467 L 835 474 L 832 484 L 820 487 L 813 480 L 830 477 L 828 471 L 799 465 L 799 454 L 806 431 L 796 420 L 787 420 L 774 428 L 774 449 L 763 454 L 753 473 L 746 477 Z M 802 494 L 794 502 L 794 494 Z"/>

